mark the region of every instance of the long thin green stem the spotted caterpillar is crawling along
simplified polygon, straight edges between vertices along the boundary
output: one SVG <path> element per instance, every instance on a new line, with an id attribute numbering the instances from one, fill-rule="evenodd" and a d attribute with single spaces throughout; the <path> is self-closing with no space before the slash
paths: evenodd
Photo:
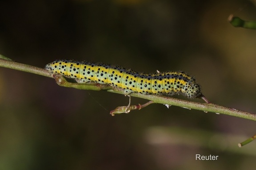
<path id="1" fill-rule="evenodd" d="M 0 59 L 0 67 L 6 67 L 6 68 L 15 69 L 15 70 L 30 72 L 37 75 L 43 75 L 46 77 L 52 77 L 50 73 L 45 69 L 29 66 L 27 64 L 16 63 L 14 61 L 5 60 L 5 59 Z M 56 79 L 56 80 L 60 80 L 60 79 Z M 72 84 L 75 86 L 73 86 Z M 106 89 L 109 92 L 126 95 L 122 89 L 110 87 L 110 86 L 98 87 L 98 85 L 96 84 L 82 84 L 82 83 L 67 83 L 67 84 L 64 84 L 63 86 L 74 87 L 77 89 L 84 89 L 84 90 L 94 90 L 92 87 L 96 87 L 95 90 Z M 179 107 L 184 107 L 189 109 L 200 110 L 204 112 L 213 112 L 213 113 L 219 113 L 224 115 L 231 115 L 239 118 L 256 121 L 256 115 L 253 113 L 240 111 L 233 108 L 223 107 L 213 103 L 196 103 L 192 101 L 176 99 L 176 98 L 163 96 L 163 95 L 143 95 L 140 93 L 131 93 L 129 95 L 132 97 L 148 99 L 148 100 L 151 100 L 153 103 L 161 103 L 161 104 L 167 104 L 172 106 L 179 106 Z"/>

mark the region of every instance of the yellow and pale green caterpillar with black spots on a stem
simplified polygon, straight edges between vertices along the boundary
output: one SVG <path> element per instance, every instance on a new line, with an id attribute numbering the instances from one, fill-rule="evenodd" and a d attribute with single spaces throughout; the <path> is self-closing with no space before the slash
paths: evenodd
<path id="1" fill-rule="evenodd" d="M 119 66 L 64 59 L 48 63 L 45 69 L 76 79 L 77 83 L 95 82 L 120 87 L 127 94 L 182 94 L 188 98 L 202 98 L 209 103 L 196 79 L 182 71 L 144 74 Z"/>

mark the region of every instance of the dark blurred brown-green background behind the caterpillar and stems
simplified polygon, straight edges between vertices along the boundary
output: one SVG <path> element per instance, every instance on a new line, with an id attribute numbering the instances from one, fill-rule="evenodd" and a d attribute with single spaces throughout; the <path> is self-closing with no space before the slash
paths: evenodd
<path id="1" fill-rule="evenodd" d="M 256 112 L 256 20 L 249 0 L 0 1 L 0 54 L 44 67 L 56 59 L 146 73 L 185 71 L 213 103 Z M 184 99 L 182 96 L 177 98 Z M 202 102 L 202 100 L 194 99 Z M 146 100 L 132 98 L 132 104 Z M 241 170 L 256 166 L 256 123 L 152 104 L 112 117 L 128 97 L 60 87 L 0 68 L 0 170 Z M 196 154 L 219 155 L 196 161 Z"/>

